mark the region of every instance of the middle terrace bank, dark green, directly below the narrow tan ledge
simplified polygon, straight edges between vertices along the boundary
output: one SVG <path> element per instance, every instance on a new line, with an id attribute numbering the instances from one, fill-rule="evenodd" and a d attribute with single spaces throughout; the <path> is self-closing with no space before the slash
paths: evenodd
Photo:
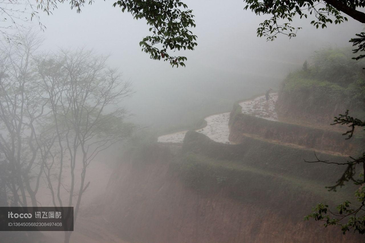
<path id="1" fill-rule="evenodd" d="M 311 181 L 321 185 L 334 183 L 343 173 L 343 167 L 324 163 L 306 163 L 315 160 L 311 150 L 293 148 L 281 144 L 269 143 L 260 139 L 247 137 L 241 144 L 222 144 L 210 140 L 207 136 L 189 131 L 185 136 L 183 151 L 195 154 L 197 161 L 235 168 L 240 171 L 261 171 L 262 175 L 272 175 L 288 182 Z M 203 156 L 203 157 L 201 157 Z M 319 158 L 341 163 L 345 157 L 317 153 Z M 230 169 L 230 170 L 231 170 Z M 224 177 L 224 175 L 222 175 Z M 303 184 L 304 185 L 304 184 Z M 309 185 L 309 184 L 308 184 Z M 310 188 L 310 185 L 307 186 Z M 320 192 L 323 192 L 320 189 Z"/>

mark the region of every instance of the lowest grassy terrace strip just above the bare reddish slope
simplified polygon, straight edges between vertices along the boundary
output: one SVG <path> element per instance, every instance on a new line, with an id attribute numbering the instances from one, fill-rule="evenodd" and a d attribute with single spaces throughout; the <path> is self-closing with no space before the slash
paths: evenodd
<path id="1" fill-rule="evenodd" d="M 199 194 L 223 193 L 243 205 L 262 205 L 296 220 L 320 202 L 355 201 L 356 186 L 351 183 L 338 192 L 328 192 L 323 182 L 194 153 L 182 155 L 173 164 L 185 185 Z"/>

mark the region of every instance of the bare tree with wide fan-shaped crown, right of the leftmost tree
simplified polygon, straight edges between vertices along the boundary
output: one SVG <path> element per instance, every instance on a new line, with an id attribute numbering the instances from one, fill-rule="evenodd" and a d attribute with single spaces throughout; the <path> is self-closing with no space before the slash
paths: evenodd
<path id="1" fill-rule="evenodd" d="M 82 194 L 90 185 L 85 181 L 88 165 L 100 151 L 127 138 L 135 129 L 123 123 L 128 113 L 120 106 L 120 101 L 132 94 L 130 83 L 122 82 L 120 74 L 107 67 L 106 60 L 80 49 L 39 56 L 35 62 L 57 141 L 50 152 L 52 159 L 44 167 L 45 175 L 54 206 L 74 206 L 74 221 Z M 52 166 L 57 168 L 57 176 Z M 76 174 L 76 168 L 81 168 L 80 174 Z M 65 173 L 69 173 L 68 182 L 62 180 Z M 67 191 L 68 200 L 62 198 L 61 190 Z M 69 242 L 71 233 L 65 231 L 65 242 Z"/>

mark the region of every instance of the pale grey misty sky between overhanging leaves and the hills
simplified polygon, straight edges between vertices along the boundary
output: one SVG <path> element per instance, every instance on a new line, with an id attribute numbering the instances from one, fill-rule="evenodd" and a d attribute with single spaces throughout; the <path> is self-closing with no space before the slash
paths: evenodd
<path id="1" fill-rule="evenodd" d="M 311 26 L 312 19 L 295 20 L 294 25 L 303 27 L 296 38 L 279 36 L 274 42 L 266 42 L 266 38 L 256 36 L 263 18 L 244 11 L 242 0 L 185 0 L 196 16 L 193 32 L 198 36 L 198 46 L 195 51 L 184 52 L 188 57 L 186 67 L 176 69 L 168 62 L 149 59 L 141 51 L 139 41 L 149 34 L 149 26 L 145 20 L 135 20 L 130 13 L 112 7 L 113 3 L 96 1 L 80 14 L 65 3 L 59 4 L 51 16 L 41 13 L 41 22 L 47 27 L 41 34 L 45 38 L 42 48 L 85 46 L 110 54 L 109 64 L 118 67 L 136 91 L 126 102 L 127 107 L 137 115 L 137 121 L 152 126 L 166 117 L 181 120 L 176 106 L 192 109 L 189 107 L 220 95 L 226 99 L 223 103 L 228 99 L 227 104 L 231 104 L 254 92 L 262 93 L 265 90 L 256 85 L 258 81 L 277 83 L 305 59 L 310 61 L 314 50 L 349 47 L 348 40 L 363 29 L 352 19 L 324 30 Z M 34 26 L 37 30 L 37 23 Z"/>

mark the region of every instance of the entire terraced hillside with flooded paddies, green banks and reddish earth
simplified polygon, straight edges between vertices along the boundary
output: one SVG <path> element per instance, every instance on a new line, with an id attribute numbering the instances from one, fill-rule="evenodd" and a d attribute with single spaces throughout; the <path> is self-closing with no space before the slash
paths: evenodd
<path id="1" fill-rule="evenodd" d="M 303 221 L 319 202 L 354 198 L 338 192 L 343 168 L 305 163 L 343 162 L 362 138 L 286 123 L 273 93 L 237 102 L 228 113 L 205 118 L 196 131 L 158 138 L 129 153 L 110 178 L 104 213 L 130 242 L 363 242 L 359 235 Z"/>

